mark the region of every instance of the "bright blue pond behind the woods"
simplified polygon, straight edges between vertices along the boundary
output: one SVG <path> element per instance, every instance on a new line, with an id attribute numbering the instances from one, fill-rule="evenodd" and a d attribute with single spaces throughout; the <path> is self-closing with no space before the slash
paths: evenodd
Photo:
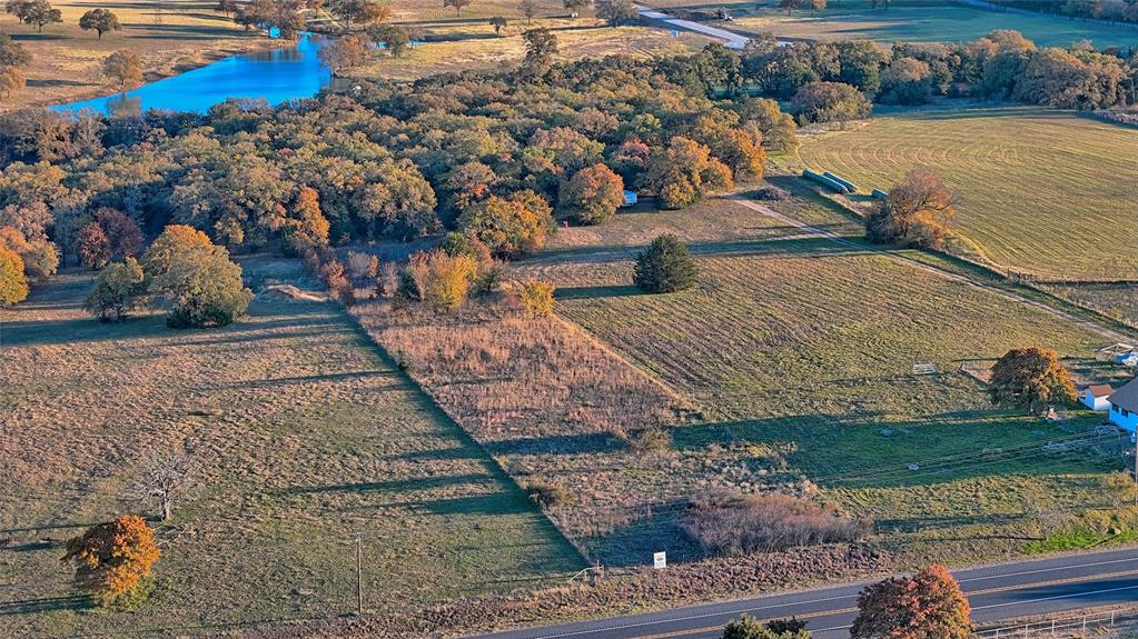
<path id="1" fill-rule="evenodd" d="M 232 56 L 133 91 L 52 108 L 91 108 L 107 115 L 123 108 L 205 113 L 229 98 L 263 98 L 272 105 L 311 98 L 331 81 L 316 57 L 323 42 L 319 35 L 304 34 L 292 47 Z"/>

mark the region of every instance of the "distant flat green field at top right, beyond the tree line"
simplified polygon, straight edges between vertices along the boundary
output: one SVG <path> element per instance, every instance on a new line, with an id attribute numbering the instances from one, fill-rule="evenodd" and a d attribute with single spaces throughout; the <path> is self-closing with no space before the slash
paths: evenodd
<path id="1" fill-rule="evenodd" d="M 654 2 L 653 2 L 654 5 Z M 737 9 L 732 26 L 739 31 L 774 32 L 810 40 L 876 40 L 901 42 L 966 42 L 997 28 L 1014 28 L 1041 47 L 1070 47 L 1090 40 L 1096 47 L 1138 44 L 1138 28 L 1072 20 L 1059 16 L 1005 14 L 942 2 L 940 6 L 906 6 L 872 9 L 868 2 L 847 0 L 823 11 L 786 14 L 775 2 Z"/>

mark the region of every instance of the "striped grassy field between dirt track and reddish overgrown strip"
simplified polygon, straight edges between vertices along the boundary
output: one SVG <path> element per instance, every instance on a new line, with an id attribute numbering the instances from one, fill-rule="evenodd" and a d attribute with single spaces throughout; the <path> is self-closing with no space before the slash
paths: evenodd
<path id="1" fill-rule="evenodd" d="M 782 476 L 801 473 L 877 521 L 881 543 L 904 559 L 1021 553 L 1017 539 L 1046 536 L 1039 512 L 1100 505 L 1122 466 L 1116 449 L 1044 448 L 1089 437 L 1097 416 L 1059 428 L 995 410 L 956 372 L 963 359 L 1040 345 L 1074 357 L 1082 379 L 1103 379 L 1113 372 L 1091 357 L 1096 335 L 880 255 L 785 239 L 745 249 L 702 255 L 699 287 L 670 296 L 622 287 L 622 260 L 543 271 L 560 272 L 561 316 L 702 410 L 704 423 L 675 430 L 677 449 L 742 447 Z M 915 376 L 915 363 L 940 373 Z"/>

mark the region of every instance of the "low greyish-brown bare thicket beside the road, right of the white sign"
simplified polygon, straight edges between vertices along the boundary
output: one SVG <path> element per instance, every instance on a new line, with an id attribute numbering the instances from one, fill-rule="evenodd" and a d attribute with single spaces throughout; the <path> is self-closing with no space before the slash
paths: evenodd
<path id="1" fill-rule="evenodd" d="M 692 500 L 679 528 L 706 553 L 727 556 L 856 541 L 869 533 L 865 522 L 789 495 L 708 493 Z"/>

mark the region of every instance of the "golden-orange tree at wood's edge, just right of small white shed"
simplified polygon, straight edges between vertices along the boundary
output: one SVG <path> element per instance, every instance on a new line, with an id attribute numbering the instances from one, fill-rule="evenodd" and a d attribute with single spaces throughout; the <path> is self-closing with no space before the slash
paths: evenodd
<path id="1" fill-rule="evenodd" d="M 711 157 L 704 144 L 676 135 L 663 151 L 652 153 L 644 184 L 663 208 L 684 208 L 704 194 L 733 184 L 731 169 Z"/>

